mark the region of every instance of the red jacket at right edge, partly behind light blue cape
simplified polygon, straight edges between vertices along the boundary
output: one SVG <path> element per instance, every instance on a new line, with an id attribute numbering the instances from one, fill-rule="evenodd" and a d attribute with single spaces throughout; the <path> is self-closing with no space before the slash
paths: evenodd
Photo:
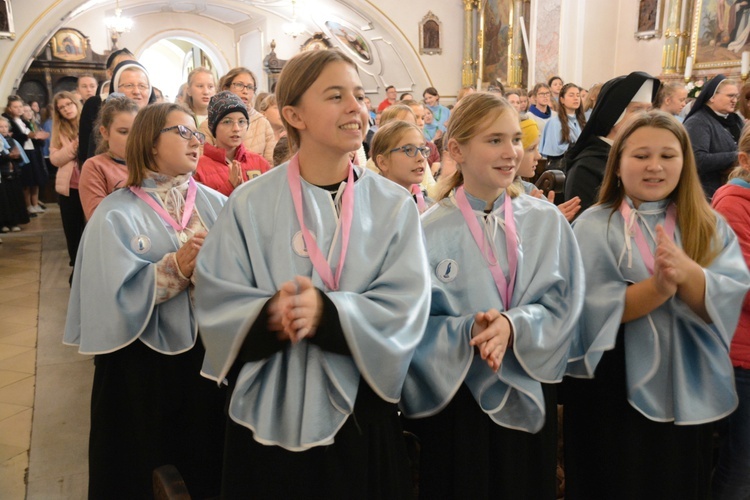
<path id="1" fill-rule="evenodd" d="M 711 205 L 737 234 L 745 263 L 750 266 L 750 184 L 741 184 L 730 183 L 720 187 L 714 193 Z M 745 295 L 729 356 L 734 366 L 750 369 L 750 293 Z"/>

